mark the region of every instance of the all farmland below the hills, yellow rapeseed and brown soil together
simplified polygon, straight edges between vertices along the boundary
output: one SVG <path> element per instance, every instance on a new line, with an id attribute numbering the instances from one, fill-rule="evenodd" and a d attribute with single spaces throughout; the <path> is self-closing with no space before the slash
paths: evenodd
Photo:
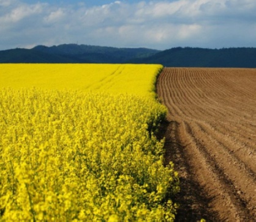
<path id="1" fill-rule="evenodd" d="M 0 70 L 0 221 L 256 217 L 255 69 Z"/>

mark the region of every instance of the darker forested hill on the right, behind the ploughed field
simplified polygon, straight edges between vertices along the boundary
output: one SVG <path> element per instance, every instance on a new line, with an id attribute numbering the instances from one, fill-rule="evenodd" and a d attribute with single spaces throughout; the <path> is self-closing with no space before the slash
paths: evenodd
<path id="1" fill-rule="evenodd" d="M 133 63 L 160 63 L 175 67 L 256 68 L 256 48 L 172 48 Z"/>

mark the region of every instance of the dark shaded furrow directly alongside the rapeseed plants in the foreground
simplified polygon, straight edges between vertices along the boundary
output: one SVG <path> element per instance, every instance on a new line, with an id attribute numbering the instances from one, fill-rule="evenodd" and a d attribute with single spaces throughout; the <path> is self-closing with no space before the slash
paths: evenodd
<path id="1" fill-rule="evenodd" d="M 203 188 L 194 179 L 194 174 L 190 170 L 190 165 L 187 164 L 189 159 L 186 155 L 186 147 L 181 143 L 179 133 L 179 123 L 177 121 L 167 121 L 165 124 L 165 165 L 170 161 L 175 163 L 175 170 L 179 173 L 179 181 L 181 193 L 175 198 L 179 204 L 176 221 L 200 221 L 205 218 L 207 221 L 214 221 L 216 212 L 210 211 L 210 199 L 206 193 L 203 193 Z"/>

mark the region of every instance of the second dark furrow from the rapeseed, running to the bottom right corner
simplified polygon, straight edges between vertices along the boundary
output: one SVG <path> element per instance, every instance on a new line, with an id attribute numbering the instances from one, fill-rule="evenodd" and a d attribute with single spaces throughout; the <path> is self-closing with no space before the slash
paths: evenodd
<path id="1" fill-rule="evenodd" d="M 248 199 L 245 199 L 239 188 L 237 187 L 237 184 L 230 179 L 230 172 L 227 172 L 227 167 L 223 167 L 219 163 L 219 157 L 220 155 L 217 155 L 217 152 L 213 154 L 211 150 L 208 150 L 209 146 L 206 146 L 204 143 L 201 142 L 200 138 L 198 138 L 198 135 L 195 134 L 195 129 L 190 126 L 189 123 L 184 123 L 186 126 L 186 131 L 189 134 L 192 141 L 194 141 L 195 149 L 200 152 L 201 158 L 205 159 L 205 165 L 207 166 L 207 170 L 205 173 L 202 171 L 202 165 L 198 167 L 197 176 L 199 174 L 203 174 L 203 179 L 207 180 L 209 179 L 208 176 L 214 177 L 214 185 L 209 184 L 209 192 L 208 193 L 214 193 L 215 201 L 212 207 L 217 207 L 221 204 L 225 204 L 227 201 L 230 206 L 233 205 L 232 212 L 233 215 L 229 215 L 230 217 L 234 217 L 235 220 L 251 220 L 254 218 L 254 215 L 250 214 L 249 207 L 252 209 L 254 206 L 253 204 L 249 206 Z M 205 140 L 204 140 L 205 141 Z M 203 165 L 204 166 L 204 165 Z M 243 176 L 243 174 L 241 174 Z M 208 181 L 204 181 L 205 183 L 208 183 Z M 220 187 L 219 187 L 219 185 Z M 206 185 L 207 187 L 207 185 Z M 254 187 L 252 187 L 254 188 Z M 223 190 L 222 190 L 223 189 Z M 216 196 L 217 195 L 217 196 Z M 250 198 L 249 198 L 250 200 Z M 221 203 L 220 203 L 221 202 Z M 218 210 L 219 211 L 219 210 Z M 225 218 L 220 218 L 220 220 L 225 220 Z"/>

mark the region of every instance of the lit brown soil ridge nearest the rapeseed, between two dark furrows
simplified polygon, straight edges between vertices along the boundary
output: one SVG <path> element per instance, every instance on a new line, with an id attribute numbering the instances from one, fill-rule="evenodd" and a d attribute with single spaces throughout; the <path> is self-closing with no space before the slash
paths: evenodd
<path id="1" fill-rule="evenodd" d="M 241 210 L 243 204 L 238 202 L 234 198 L 232 184 L 227 182 L 225 174 L 217 167 L 214 160 L 211 160 L 211 156 L 205 151 L 205 148 L 195 138 L 190 125 L 184 122 L 186 129 L 186 137 L 190 140 L 190 167 L 193 170 L 195 179 L 200 185 L 203 185 L 203 189 L 211 199 L 209 207 L 218 213 L 216 215 L 219 218 L 216 220 L 227 220 L 229 215 L 232 221 L 243 220 L 246 217 L 246 213 Z M 225 206 L 228 206 L 225 207 Z"/>

